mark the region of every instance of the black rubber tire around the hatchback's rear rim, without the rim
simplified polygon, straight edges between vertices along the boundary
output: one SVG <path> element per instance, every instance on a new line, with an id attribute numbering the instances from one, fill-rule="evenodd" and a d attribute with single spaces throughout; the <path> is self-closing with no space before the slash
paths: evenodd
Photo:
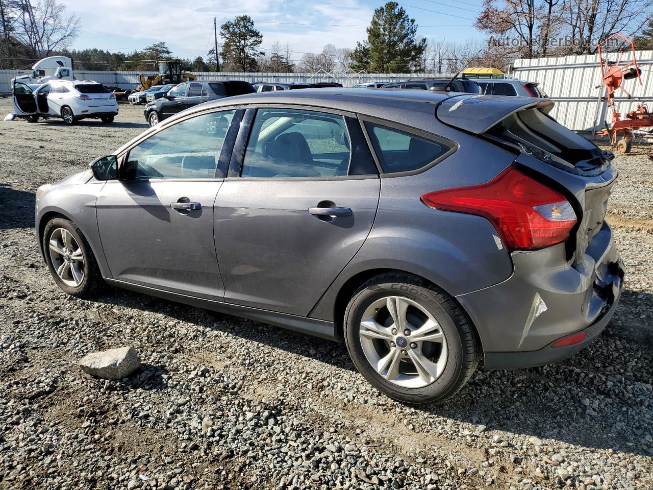
<path id="1" fill-rule="evenodd" d="M 419 302 L 438 321 L 447 341 L 447 365 L 439 378 L 422 388 L 401 387 L 385 380 L 370 365 L 360 344 L 360 321 L 362 314 L 372 302 L 388 296 L 400 296 Z M 390 398 L 413 404 L 438 402 L 458 389 L 464 371 L 464 350 L 458 327 L 438 297 L 425 287 L 403 283 L 383 283 L 363 289 L 347 306 L 345 312 L 345 344 L 349 355 L 360 373 L 379 391 Z"/>

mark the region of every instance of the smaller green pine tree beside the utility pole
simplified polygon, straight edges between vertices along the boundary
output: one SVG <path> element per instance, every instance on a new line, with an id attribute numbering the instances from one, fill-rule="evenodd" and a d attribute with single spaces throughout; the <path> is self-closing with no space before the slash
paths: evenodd
<path id="1" fill-rule="evenodd" d="M 263 52 L 257 49 L 263 42 L 263 35 L 254 28 L 254 22 L 248 15 L 239 15 L 233 21 L 220 26 L 220 35 L 224 40 L 220 56 L 225 71 L 256 71 L 259 63 L 257 56 Z"/>

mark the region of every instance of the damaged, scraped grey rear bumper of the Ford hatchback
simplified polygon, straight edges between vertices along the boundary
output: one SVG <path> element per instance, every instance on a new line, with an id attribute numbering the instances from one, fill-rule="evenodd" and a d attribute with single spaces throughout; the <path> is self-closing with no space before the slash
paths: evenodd
<path id="1" fill-rule="evenodd" d="M 521 368 L 561 361 L 605 328 L 619 301 L 624 267 L 612 231 L 603 227 L 573 267 L 565 244 L 513 253 L 510 278 L 457 297 L 477 327 L 485 367 Z M 554 348 L 585 332 L 577 344 Z"/>

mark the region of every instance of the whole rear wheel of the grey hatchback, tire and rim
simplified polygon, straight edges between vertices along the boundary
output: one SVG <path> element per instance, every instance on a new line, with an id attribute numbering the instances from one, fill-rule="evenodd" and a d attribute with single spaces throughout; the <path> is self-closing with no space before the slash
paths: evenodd
<path id="1" fill-rule="evenodd" d="M 470 320 L 447 293 L 402 272 L 360 286 L 345 311 L 345 344 L 358 371 L 409 404 L 455 395 L 479 363 Z"/>

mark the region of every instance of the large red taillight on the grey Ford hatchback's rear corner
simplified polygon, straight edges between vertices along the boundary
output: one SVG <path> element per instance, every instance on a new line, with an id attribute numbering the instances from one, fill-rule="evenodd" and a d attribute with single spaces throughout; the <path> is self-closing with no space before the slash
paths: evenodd
<path id="1" fill-rule="evenodd" d="M 487 218 L 508 250 L 564 242 L 576 224 L 576 214 L 562 194 L 512 167 L 485 184 L 426 193 L 422 203 Z"/>

